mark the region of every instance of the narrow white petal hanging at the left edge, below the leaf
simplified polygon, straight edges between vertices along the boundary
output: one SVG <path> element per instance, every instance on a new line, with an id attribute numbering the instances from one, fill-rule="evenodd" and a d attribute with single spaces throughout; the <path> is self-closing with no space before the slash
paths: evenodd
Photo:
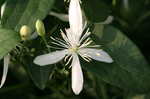
<path id="1" fill-rule="evenodd" d="M 8 54 L 8 55 L 4 56 L 3 76 L 2 76 L 0 88 L 4 85 L 4 83 L 6 81 L 9 62 L 10 62 L 10 55 Z"/>

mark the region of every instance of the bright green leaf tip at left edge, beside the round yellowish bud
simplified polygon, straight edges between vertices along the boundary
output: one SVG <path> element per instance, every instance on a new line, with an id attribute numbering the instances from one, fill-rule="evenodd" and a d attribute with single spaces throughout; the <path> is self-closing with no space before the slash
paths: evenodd
<path id="1" fill-rule="evenodd" d="M 19 34 L 13 30 L 0 28 L 0 59 L 19 43 Z"/>

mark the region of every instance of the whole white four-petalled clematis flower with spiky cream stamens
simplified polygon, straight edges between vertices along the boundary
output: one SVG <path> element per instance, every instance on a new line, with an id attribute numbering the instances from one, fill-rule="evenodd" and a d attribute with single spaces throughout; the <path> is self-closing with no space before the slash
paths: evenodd
<path id="1" fill-rule="evenodd" d="M 90 32 L 87 30 L 84 33 L 84 24 L 82 19 L 82 11 L 79 0 L 71 0 L 69 5 L 69 24 L 70 28 L 66 30 L 66 34 L 61 31 L 63 40 L 52 38 L 61 50 L 50 52 L 48 54 L 37 56 L 34 63 L 40 66 L 54 64 L 62 59 L 68 58 L 68 63 L 71 62 L 72 67 L 72 90 L 78 95 L 83 89 L 83 72 L 81 69 L 79 55 L 86 61 L 91 59 L 112 63 L 112 58 L 102 49 L 96 49 L 99 45 L 91 45 Z"/>

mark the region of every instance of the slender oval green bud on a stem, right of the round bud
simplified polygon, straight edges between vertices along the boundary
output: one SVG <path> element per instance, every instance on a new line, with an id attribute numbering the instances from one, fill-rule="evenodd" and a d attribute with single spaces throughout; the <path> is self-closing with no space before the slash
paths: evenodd
<path id="1" fill-rule="evenodd" d="M 39 36 L 44 36 L 45 35 L 45 27 L 44 27 L 44 23 L 41 20 L 37 20 L 36 21 L 36 30 Z"/>

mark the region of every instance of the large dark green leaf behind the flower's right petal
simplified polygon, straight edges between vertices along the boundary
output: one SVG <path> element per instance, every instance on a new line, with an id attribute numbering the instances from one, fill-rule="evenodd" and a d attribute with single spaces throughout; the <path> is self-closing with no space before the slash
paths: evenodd
<path id="1" fill-rule="evenodd" d="M 96 44 L 114 60 L 113 63 L 92 61 L 85 68 L 100 79 L 126 91 L 147 92 L 150 89 L 150 67 L 137 46 L 121 31 L 96 24 L 92 32 Z"/>

